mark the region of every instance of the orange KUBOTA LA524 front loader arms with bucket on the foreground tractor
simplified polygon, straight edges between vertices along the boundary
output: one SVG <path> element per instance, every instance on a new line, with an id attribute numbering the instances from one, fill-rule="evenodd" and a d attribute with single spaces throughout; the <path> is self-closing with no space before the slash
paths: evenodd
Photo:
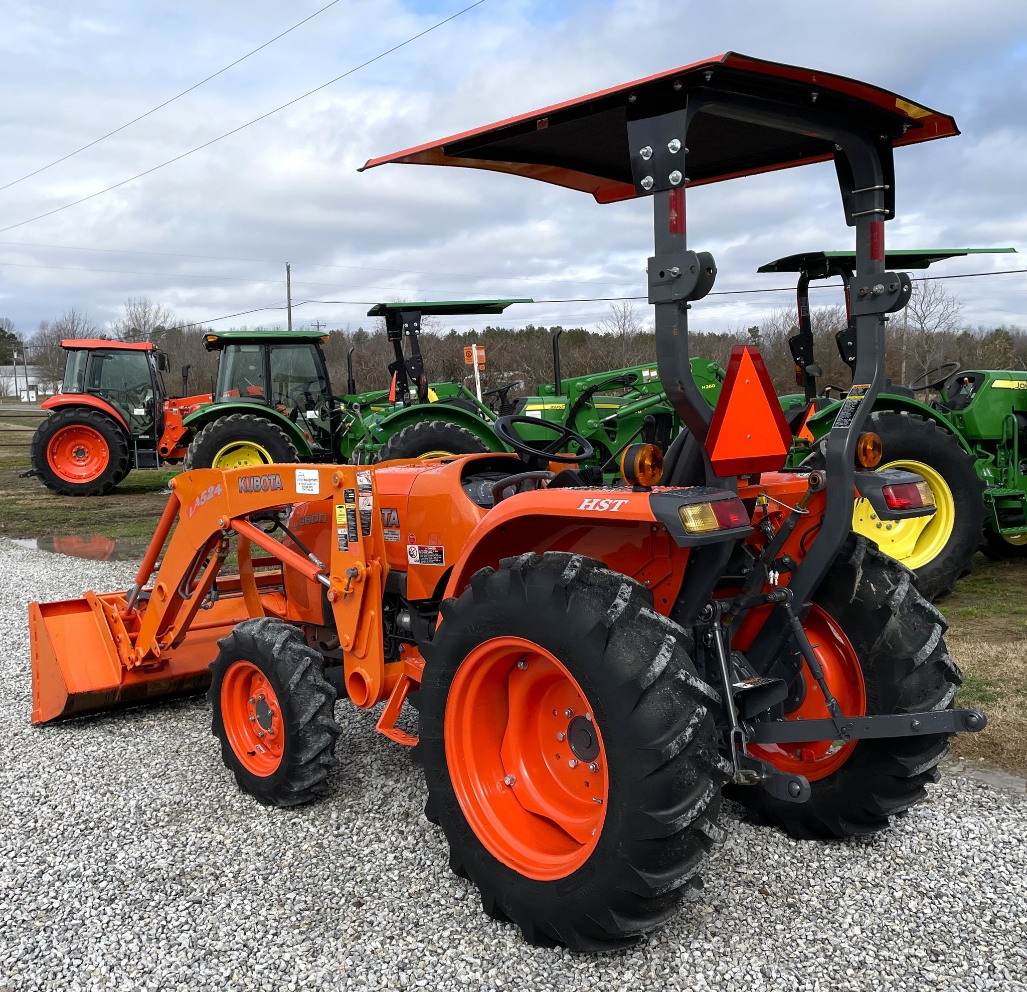
<path id="1" fill-rule="evenodd" d="M 349 465 L 198 469 L 172 488 L 127 592 L 33 604 L 34 723 L 202 689 L 218 638 L 248 617 L 284 618 L 286 569 L 324 586 L 350 698 L 370 707 L 385 696 L 380 604 L 388 565 L 373 472 Z M 258 526 L 274 510 L 329 497 L 328 562 Z M 233 534 L 239 573 L 216 584 Z M 251 544 L 266 557 L 255 560 Z"/>

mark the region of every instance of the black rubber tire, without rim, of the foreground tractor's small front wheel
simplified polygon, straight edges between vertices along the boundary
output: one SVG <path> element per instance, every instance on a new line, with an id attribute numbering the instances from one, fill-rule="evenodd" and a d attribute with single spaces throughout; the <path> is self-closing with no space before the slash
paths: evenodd
<path id="1" fill-rule="evenodd" d="M 221 741 L 221 759 L 239 789 L 264 806 L 297 806 L 327 795 L 342 728 L 333 716 L 336 691 L 325 680 L 321 655 L 297 627 L 272 617 L 243 620 L 218 647 L 207 692 L 214 712 L 211 732 Z M 268 775 L 254 774 L 242 765 L 225 729 L 222 686 L 235 661 L 260 669 L 278 697 L 284 748 L 280 764 Z"/>

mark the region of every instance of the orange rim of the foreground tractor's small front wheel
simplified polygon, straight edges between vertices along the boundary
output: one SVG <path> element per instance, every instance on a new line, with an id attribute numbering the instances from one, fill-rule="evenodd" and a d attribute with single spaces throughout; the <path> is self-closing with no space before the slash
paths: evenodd
<path id="1" fill-rule="evenodd" d="M 221 719 L 239 763 L 265 777 L 286 747 L 281 707 L 267 677 L 251 661 L 233 661 L 221 683 Z"/>

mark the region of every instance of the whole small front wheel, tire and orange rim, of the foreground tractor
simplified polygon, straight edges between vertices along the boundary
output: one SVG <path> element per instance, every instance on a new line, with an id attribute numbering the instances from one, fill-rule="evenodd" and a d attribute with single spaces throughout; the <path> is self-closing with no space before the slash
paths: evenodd
<path id="1" fill-rule="evenodd" d="M 218 647 L 207 693 L 211 732 L 239 789 L 264 806 L 327 795 L 342 728 L 321 655 L 297 627 L 271 617 L 243 620 Z M 248 687 L 256 693 L 249 705 Z"/>

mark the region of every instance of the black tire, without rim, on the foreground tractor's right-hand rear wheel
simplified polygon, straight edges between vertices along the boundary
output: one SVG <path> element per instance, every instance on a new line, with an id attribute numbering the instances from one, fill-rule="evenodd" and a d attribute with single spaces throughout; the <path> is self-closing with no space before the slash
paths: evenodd
<path id="1" fill-rule="evenodd" d="M 869 714 L 949 708 L 962 681 L 942 637 L 945 619 L 911 578 L 909 569 L 852 534 L 813 597 L 855 649 Z M 808 802 L 784 802 L 753 787 L 732 786 L 727 794 L 758 823 L 799 839 L 871 834 L 923 798 L 948 750 L 945 734 L 860 740 L 837 771 L 810 783 Z"/>

